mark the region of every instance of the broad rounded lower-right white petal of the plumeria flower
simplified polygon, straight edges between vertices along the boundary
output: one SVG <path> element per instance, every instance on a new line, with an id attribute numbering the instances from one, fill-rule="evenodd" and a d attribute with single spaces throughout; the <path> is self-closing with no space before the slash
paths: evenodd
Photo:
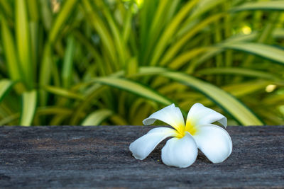
<path id="1" fill-rule="evenodd" d="M 197 147 L 214 164 L 224 161 L 233 149 L 230 135 L 217 125 L 200 125 L 193 137 Z"/>

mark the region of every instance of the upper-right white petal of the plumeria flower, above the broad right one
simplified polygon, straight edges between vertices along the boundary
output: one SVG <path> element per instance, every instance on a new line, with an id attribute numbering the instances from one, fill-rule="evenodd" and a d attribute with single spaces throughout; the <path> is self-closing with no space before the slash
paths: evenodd
<path id="1" fill-rule="evenodd" d="M 195 103 L 190 108 L 187 114 L 187 125 L 204 125 L 213 122 L 220 122 L 224 127 L 226 127 L 226 117 L 221 113 L 205 107 L 201 103 Z"/>

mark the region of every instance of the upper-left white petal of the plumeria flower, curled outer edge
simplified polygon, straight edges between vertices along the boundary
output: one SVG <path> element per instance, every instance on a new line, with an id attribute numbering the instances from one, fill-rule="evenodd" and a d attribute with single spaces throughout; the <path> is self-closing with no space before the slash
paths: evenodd
<path id="1" fill-rule="evenodd" d="M 151 125 L 155 122 L 155 120 L 163 121 L 180 131 L 182 131 L 183 127 L 185 127 L 185 120 L 182 117 L 180 108 L 175 107 L 174 104 L 168 105 L 167 107 L 153 113 L 149 116 L 149 118 L 143 120 L 143 124 Z"/>

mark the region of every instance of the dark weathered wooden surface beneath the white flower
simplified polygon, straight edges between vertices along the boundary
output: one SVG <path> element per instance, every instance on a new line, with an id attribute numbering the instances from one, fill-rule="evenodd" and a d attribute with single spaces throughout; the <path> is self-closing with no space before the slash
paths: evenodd
<path id="1" fill-rule="evenodd" d="M 152 127 L 0 127 L 0 188 L 284 188 L 284 127 L 228 127 L 233 152 L 165 166 L 163 142 L 144 161 L 129 144 Z"/>

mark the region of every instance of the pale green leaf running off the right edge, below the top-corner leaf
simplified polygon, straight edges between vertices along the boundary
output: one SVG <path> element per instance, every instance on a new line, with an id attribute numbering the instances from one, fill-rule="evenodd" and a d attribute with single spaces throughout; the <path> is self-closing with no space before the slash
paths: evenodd
<path id="1" fill-rule="evenodd" d="M 253 42 L 239 42 L 239 43 L 224 43 L 220 45 L 225 49 L 239 50 L 249 52 L 253 55 L 258 55 L 263 58 L 269 59 L 273 62 L 284 64 L 284 50 L 273 47 L 271 45 L 264 45 L 261 43 Z"/>

